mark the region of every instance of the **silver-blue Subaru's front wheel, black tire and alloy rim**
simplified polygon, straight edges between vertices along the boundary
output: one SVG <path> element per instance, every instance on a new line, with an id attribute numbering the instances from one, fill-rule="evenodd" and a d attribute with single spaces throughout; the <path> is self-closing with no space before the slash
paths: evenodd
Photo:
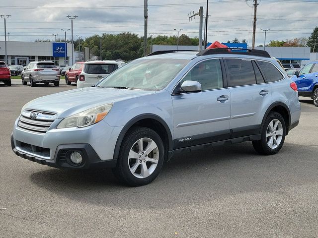
<path id="1" fill-rule="evenodd" d="M 127 132 L 120 147 L 115 176 L 130 186 L 142 186 L 157 178 L 164 161 L 164 146 L 158 133 L 147 127 Z"/>

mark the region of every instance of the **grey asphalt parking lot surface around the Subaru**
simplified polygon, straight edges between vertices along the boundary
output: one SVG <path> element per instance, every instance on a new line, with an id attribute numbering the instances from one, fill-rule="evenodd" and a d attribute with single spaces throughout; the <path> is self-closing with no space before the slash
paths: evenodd
<path id="1" fill-rule="evenodd" d="M 318 237 L 318 108 L 301 98 L 299 126 L 274 156 L 250 142 L 181 154 L 149 185 L 110 170 L 63 171 L 13 154 L 28 101 L 59 87 L 0 86 L 0 237 Z"/>

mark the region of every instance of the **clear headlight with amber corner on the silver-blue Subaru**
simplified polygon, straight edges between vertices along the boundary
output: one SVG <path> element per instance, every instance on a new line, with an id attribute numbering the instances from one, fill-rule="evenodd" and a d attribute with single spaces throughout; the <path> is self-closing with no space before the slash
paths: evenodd
<path id="1" fill-rule="evenodd" d="M 112 103 L 104 104 L 75 114 L 71 117 L 63 119 L 57 128 L 85 127 L 95 124 L 106 117 L 112 106 Z"/>

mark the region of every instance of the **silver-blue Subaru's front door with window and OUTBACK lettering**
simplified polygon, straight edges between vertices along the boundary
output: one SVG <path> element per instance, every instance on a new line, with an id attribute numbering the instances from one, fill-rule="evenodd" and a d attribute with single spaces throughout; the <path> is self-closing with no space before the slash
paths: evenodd
<path id="1" fill-rule="evenodd" d="M 186 80 L 201 84 L 201 92 L 173 94 L 174 149 L 230 138 L 231 97 L 220 59 L 197 63 Z"/>

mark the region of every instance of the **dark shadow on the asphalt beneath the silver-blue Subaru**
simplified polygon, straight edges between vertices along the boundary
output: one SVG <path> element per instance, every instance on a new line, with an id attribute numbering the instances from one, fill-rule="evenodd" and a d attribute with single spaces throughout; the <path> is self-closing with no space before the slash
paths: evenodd
<path id="1" fill-rule="evenodd" d="M 157 179 L 141 187 L 121 185 L 109 169 L 45 169 L 30 179 L 43 189 L 75 201 L 156 210 L 222 200 L 239 193 L 284 189 L 293 186 L 295 179 L 290 177 L 308 173 L 302 172 L 300 164 L 296 147 L 283 147 L 277 155 L 260 156 L 250 142 L 245 142 L 182 153 L 164 165 Z"/>

